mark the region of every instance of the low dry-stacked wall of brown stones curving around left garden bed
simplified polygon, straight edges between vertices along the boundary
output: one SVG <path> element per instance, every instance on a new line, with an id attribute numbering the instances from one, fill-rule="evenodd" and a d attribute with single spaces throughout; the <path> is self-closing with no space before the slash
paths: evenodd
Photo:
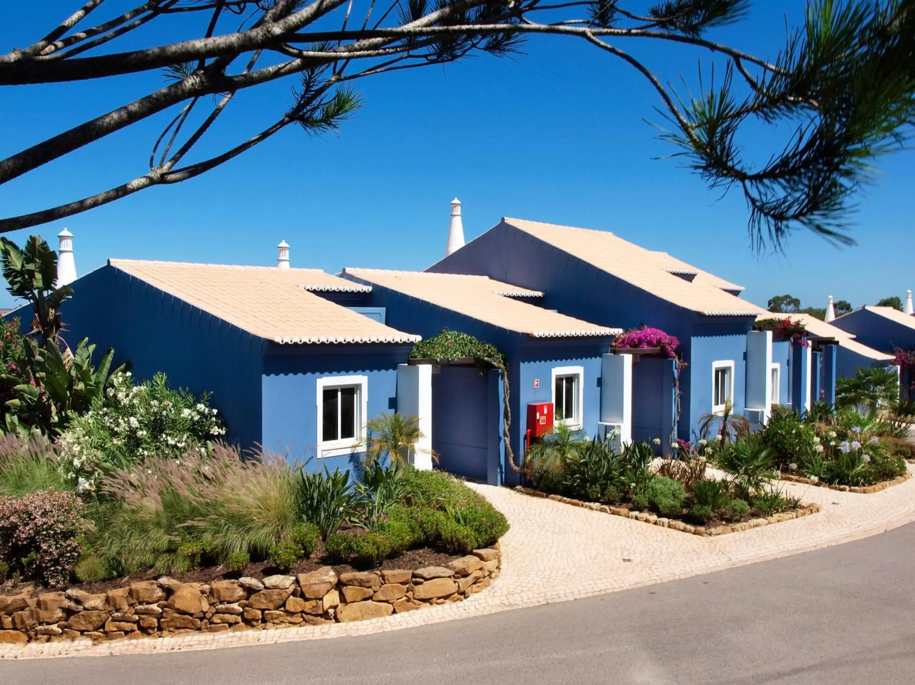
<path id="1" fill-rule="evenodd" d="M 294 625 L 363 621 L 460 602 L 499 577 L 498 545 L 447 567 L 337 573 L 326 566 L 297 576 L 216 581 L 163 577 L 106 593 L 70 589 L 0 595 L 0 643 L 165 637 Z"/>

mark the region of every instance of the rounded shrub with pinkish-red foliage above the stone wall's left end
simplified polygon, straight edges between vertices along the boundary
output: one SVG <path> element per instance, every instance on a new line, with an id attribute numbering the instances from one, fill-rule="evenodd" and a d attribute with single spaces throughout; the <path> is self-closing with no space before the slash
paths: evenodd
<path id="1" fill-rule="evenodd" d="M 0 560 L 24 579 L 60 587 L 80 559 L 85 506 L 73 493 L 0 497 Z"/>

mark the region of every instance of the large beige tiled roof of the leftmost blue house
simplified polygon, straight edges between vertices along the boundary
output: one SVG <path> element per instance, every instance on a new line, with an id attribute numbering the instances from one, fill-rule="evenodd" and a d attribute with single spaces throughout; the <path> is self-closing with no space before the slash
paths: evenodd
<path id="1" fill-rule="evenodd" d="M 133 259 L 110 259 L 108 264 L 265 340 L 347 343 L 420 339 L 308 292 L 314 288 L 351 290 L 356 285 L 319 269 Z"/>

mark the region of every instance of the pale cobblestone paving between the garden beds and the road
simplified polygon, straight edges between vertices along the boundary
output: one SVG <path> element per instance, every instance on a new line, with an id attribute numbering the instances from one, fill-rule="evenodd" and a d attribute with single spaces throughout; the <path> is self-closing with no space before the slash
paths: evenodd
<path id="1" fill-rule="evenodd" d="M 915 467 L 910 465 L 909 469 Z M 501 577 L 463 602 L 358 623 L 229 634 L 188 633 L 98 645 L 87 639 L 24 647 L 0 645 L 0 658 L 151 654 L 367 635 L 673 581 L 865 538 L 915 521 L 915 478 L 872 495 L 802 484 L 783 486 L 804 502 L 823 506 L 823 511 L 716 538 L 700 538 L 521 495 L 508 488 L 473 484 L 508 516 L 511 530 L 501 540 Z"/>

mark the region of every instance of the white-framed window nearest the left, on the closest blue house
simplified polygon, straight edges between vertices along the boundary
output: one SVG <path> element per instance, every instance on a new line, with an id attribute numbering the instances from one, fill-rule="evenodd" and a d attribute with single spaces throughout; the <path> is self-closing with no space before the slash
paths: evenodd
<path id="1" fill-rule="evenodd" d="M 318 457 L 350 454 L 365 437 L 368 378 L 318 378 Z"/>

